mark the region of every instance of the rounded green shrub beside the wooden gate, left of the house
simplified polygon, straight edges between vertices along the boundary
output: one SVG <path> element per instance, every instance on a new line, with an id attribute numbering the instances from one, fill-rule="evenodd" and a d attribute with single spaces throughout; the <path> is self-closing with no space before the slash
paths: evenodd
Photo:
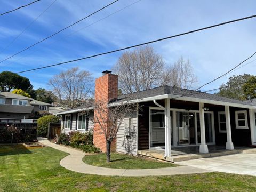
<path id="1" fill-rule="evenodd" d="M 37 120 L 38 137 L 47 137 L 48 123 L 58 123 L 59 117 L 54 115 L 45 115 Z"/>

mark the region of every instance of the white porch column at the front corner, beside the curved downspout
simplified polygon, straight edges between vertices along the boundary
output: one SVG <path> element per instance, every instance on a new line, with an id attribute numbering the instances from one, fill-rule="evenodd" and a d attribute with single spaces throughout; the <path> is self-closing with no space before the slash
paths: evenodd
<path id="1" fill-rule="evenodd" d="M 165 99 L 165 157 L 171 157 L 171 111 L 170 99 Z"/>

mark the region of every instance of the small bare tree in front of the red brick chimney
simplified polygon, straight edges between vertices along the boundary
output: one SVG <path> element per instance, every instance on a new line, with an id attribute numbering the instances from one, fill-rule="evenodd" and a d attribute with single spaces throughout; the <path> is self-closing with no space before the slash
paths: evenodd
<path id="1" fill-rule="evenodd" d="M 136 103 L 131 102 L 131 98 L 125 101 L 117 101 L 110 107 L 104 100 L 95 100 L 93 105 L 93 122 L 94 124 L 99 124 L 100 130 L 97 131 L 100 131 L 101 134 L 105 136 L 107 162 L 109 163 L 111 143 L 116 139 L 121 122 L 124 121 L 126 115 L 131 114 L 134 110 L 137 110 L 138 107 Z M 94 132 L 95 131 L 94 126 Z"/>

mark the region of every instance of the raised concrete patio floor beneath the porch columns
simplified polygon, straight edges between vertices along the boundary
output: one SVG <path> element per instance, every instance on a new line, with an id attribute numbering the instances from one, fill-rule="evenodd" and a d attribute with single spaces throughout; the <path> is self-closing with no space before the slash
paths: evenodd
<path id="1" fill-rule="evenodd" d="M 171 157 L 164 158 L 165 149 L 164 147 L 155 147 L 147 150 L 140 150 L 138 151 L 139 155 L 162 159 L 165 161 L 170 162 L 181 162 L 181 161 L 188 161 L 191 159 L 198 159 L 198 158 L 207 158 L 207 157 L 217 157 L 223 155 L 231 155 L 231 154 L 238 154 L 238 153 L 255 153 L 256 148 L 250 147 L 239 147 L 236 146 L 234 150 L 227 150 L 225 146 L 216 146 L 216 145 L 209 145 L 208 146 L 209 153 L 199 153 L 199 146 L 187 146 L 187 147 L 173 147 L 171 149 Z"/>

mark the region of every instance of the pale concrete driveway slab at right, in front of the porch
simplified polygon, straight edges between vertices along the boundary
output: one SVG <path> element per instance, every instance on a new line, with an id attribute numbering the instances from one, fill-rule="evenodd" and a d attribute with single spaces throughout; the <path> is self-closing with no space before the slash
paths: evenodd
<path id="1" fill-rule="evenodd" d="M 193 159 L 177 162 L 177 164 L 193 166 L 210 171 L 256 176 L 256 154 L 240 153 L 220 157 Z"/>

